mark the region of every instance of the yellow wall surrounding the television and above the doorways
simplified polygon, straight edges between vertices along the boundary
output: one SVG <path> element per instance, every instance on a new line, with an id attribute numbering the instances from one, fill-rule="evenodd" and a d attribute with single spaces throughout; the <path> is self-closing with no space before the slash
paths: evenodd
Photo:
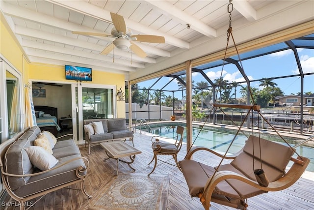
<path id="1" fill-rule="evenodd" d="M 28 63 L 24 52 L 13 32 L 6 23 L 4 16 L 0 16 L 0 54 L 8 60 L 15 69 L 21 72 L 24 84 L 29 80 L 44 80 L 53 82 L 69 82 L 65 80 L 64 66 L 45 63 Z M 93 69 L 92 84 L 114 85 L 117 90 L 122 87 L 125 91 L 125 77 L 123 74 L 98 71 Z M 24 105 L 23 105 L 24 106 Z M 125 102 L 117 102 L 117 117 L 125 118 Z"/>

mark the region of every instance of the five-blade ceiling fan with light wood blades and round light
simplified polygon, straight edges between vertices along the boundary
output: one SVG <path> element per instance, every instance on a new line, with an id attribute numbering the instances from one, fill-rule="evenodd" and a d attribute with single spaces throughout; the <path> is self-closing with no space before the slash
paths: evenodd
<path id="1" fill-rule="evenodd" d="M 72 31 L 74 34 L 80 35 L 92 35 L 92 36 L 107 36 L 113 37 L 115 40 L 105 47 L 101 52 L 101 55 L 108 55 L 114 47 L 120 50 L 131 49 L 136 55 L 141 58 L 145 58 L 146 53 L 134 43 L 134 41 L 139 42 L 150 42 L 150 43 L 165 43 L 165 38 L 163 36 L 156 35 L 132 35 L 131 29 L 126 27 L 123 16 L 110 12 L 111 19 L 114 28 L 111 30 L 111 35 L 107 33 L 97 33 L 97 32 L 84 32 L 84 31 Z"/>

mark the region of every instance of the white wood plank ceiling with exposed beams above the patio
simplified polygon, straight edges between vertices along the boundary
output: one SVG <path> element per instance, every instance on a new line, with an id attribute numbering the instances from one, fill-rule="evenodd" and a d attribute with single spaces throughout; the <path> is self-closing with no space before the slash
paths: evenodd
<path id="1" fill-rule="evenodd" d="M 245 42 L 313 20 L 313 2 L 233 0 L 233 30 L 239 41 Z M 223 49 L 229 25 L 228 3 L 228 0 L 1 0 L 0 7 L 30 62 L 86 66 L 135 78 Z M 145 58 L 130 49 L 117 48 L 101 55 L 114 38 L 72 33 L 110 34 L 113 28 L 110 12 L 123 16 L 133 34 L 164 36 L 165 43 L 137 42 L 146 52 Z"/>

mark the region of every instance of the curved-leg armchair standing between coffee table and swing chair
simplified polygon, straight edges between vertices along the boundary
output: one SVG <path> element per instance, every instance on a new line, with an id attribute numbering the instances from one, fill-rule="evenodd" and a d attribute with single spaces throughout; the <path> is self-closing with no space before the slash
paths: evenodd
<path id="1" fill-rule="evenodd" d="M 150 176 L 154 172 L 154 170 L 157 166 L 157 155 L 159 155 L 159 154 L 161 154 L 161 155 L 172 155 L 173 159 L 176 161 L 177 167 L 180 169 L 179 164 L 178 164 L 178 160 L 177 160 L 177 154 L 181 150 L 181 147 L 182 147 L 183 131 L 184 131 L 184 128 L 182 126 L 178 125 L 177 130 L 176 130 L 177 136 L 175 138 L 163 138 L 160 136 L 153 136 L 152 137 L 152 143 L 153 143 L 152 149 L 154 152 L 154 157 L 148 165 L 150 165 L 154 159 L 155 159 L 155 165 L 154 165 L 152 172 L 149 173 L 148 176 Z M 159 140 L 162 140 L 162 139 L 163 140 L 172 139 L 172 140 L 175 140 L 175 143 L 174 144 L 161 143 Z M 162 161 L 162 162 L 167 163 L 165 161 Z M 168 163 L 168 164 L 170 164 L 170 163 Z"/>

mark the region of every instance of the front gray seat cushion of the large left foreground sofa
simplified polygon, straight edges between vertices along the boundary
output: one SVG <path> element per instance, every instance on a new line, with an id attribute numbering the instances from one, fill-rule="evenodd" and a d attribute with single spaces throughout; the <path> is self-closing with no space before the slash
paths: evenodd
<path id="1" fill-rule="evenodd" d="M 77 157 L 80 157 L 80 155 L 76 154 L 60 158 L 59 162 L 54 166 L 54 168 L 65 163 L 68 160 Z M 85 167 L 84 161 L 82 159 L 75 160 L 69 164 L 66 164 L 48 173 L 33 176 L 28 180 L 28 182 L 24 186 L 17 189 L 15 191 L 15 194 L 20 197 L 25 197 L 73 180 L 78 180 L 78 177 L 76 176 L 76 169 L 79 166 Z M 83 173 L 83 175 L 85 174 L 86 173 Z"/>

